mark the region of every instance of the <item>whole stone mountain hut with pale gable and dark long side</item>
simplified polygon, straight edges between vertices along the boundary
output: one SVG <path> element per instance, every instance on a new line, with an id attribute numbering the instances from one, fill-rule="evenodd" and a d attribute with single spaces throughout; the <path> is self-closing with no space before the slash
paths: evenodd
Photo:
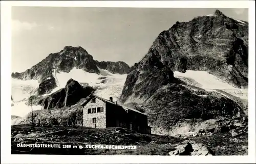
<path id="1" fill-rule="evenodd" d="M 90 101 L 83 104 L 83 126 L 93 128 L 123 127 L 140 133 L 151 133 L 147 125 L 147 115 L 113 102 L 91 95 Z"/>

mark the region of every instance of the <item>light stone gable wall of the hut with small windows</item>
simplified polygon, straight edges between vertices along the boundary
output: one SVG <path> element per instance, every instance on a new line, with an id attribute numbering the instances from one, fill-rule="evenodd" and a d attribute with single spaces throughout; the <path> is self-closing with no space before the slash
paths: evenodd
<path id="1" fill-rule="evenodd" d="M 95 102 L 89 102 L 83 107 L 83 126 L 93 128 L 105 128 L 106 127 L 106 107 L 105 103 L 96 98 Z M 96 108 L 96 113 L 88 114 L 88 109 Z M 103 107 L 103 112 L 97 112 L 97 107 Z M 96 124 L 93 123 L 93 118 L 96 118 Z"/>

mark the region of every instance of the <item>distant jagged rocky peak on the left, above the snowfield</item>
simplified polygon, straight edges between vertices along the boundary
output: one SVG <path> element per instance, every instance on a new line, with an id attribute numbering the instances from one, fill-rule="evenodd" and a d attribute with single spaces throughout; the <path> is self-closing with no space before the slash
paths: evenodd
<path id="1" fill-rule="evenodd" d="M 129 72 L 129 65 L 124 62 L 98 62 L 82 47 L 66 46 L 57 53 L 51 53 L 49 56 L 34 65 L 25 72 L 12 73 L 12 78 L 17 79 L 36 79 L 39 81 L 38 94 L 49 93 L 54 89 L 56 72 L 70 72 L 73 68 L 82 69 L 90 73 L 100 73 L 101 69 L 108 70 L 111 73 L 125 74 Z"/>

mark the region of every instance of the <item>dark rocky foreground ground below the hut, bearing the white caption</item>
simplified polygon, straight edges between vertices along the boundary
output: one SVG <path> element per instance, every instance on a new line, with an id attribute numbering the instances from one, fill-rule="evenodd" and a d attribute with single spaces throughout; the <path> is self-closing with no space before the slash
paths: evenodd
<path id="1" fill-rule="evenodd" d="M 12 154 L 248 155 L 248 134 L 232 136 L 230 133 L 180 139 L 166 135 L 140 134 L 123 128 L 27 124 L 11 127 L 11 143 Z M 60 144 L 61 147 L 71 145 L 71 148 L 26 148 L 17 147 L 17 144 Z M 84 148 L 88 144 L 133 145 L 136 149 Z"/>

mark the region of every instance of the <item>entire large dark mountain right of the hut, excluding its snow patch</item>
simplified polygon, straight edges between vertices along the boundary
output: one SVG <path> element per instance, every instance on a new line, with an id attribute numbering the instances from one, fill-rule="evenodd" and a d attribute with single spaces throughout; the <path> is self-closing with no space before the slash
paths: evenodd
<path id="1" fill-rule="evenodd" d="M 184 120 L 242 118 L 243 105 L 221 93 L 191 86 L 176 78 L 174 71 L 207 71 L 234 87 L 246 88 L 247 50 L 248 23 L 219 10 L 212 16 L 177 22 L 160 33 L 145 57 L 131 68 L 121 101 L 137 104 L 150 116 L 153 130 L 162 127 L 168 134 Z"/>

